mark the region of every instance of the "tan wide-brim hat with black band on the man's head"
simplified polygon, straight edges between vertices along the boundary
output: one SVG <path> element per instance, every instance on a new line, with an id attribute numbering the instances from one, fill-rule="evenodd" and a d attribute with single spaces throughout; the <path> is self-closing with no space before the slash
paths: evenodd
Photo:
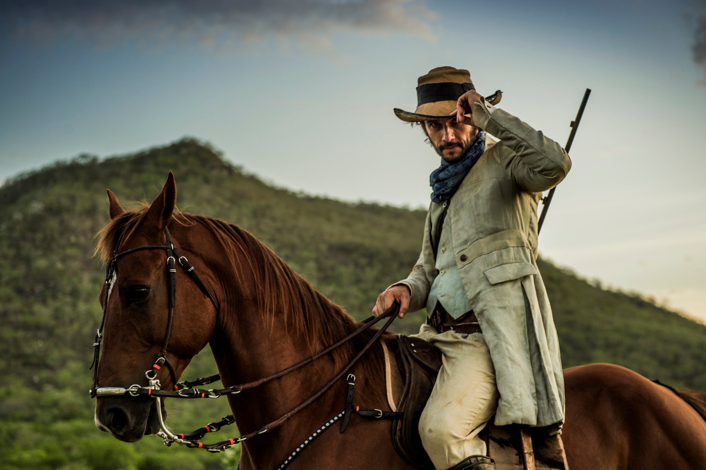
<path id="1" fill-rule="evenodd" d="M 462 68 L 437 67 L 417 80 L 417 109 L 413 113 L 395 108 L 395 115 L 407 122 L 436 121 L 451 118 L 458 98 L 476 88 L 471 74 Z M 498 104 L 503 97 L 500 90 L 487 97 L 491 104 Z M 470 116 L 470 112 L 465 114 Z"/>

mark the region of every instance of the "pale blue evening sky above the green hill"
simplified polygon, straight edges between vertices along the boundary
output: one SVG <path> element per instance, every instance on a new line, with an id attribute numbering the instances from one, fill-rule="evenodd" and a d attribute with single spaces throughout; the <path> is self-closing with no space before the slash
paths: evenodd
<path id="1" fill-rule="evenodd" d="M 540 251 L 706 319 L 703 0 L 26 4 L 0 3 L 0 180 L 193 135 L 281 186 L 426 207 L 438 157 L 392 112 L 418 76 L 467 68 L 562 145 L 592 88 Z"/>

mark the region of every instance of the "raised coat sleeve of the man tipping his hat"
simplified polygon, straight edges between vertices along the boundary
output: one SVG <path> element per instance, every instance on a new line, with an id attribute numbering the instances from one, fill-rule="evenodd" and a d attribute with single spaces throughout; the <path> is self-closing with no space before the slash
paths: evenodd
<path id="1" fill-rule="evenodd" d="M 513 151 L 507 152 L 507 157 L 502 155 L 501 163 L 510 179 L 525 191 L 539 193 L 554 188 L 571 169 L 571 159 L 561 145 L 502 109 L 490 113 L 476 103 L 473 121 Z"/>

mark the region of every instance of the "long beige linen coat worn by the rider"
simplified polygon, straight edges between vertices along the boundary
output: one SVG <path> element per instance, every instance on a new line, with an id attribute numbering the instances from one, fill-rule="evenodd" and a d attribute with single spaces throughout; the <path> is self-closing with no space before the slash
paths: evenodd
<path id="1" fill-rule="evenodd" d="M 564 179 L 571 161 L 561 145 L 502 109 L 474 105 L 486 151 L 461 183 L 446 217 L 468 301 L 496 369 L 496 424 L 562 423 L 564 385 L 551 306 L 537 270 L 537 203 Z M 426 306 L 438 275 L 431 234 L 443 207 L 431 203 L 421 255 L 405 284 L 409 311 Z"/>

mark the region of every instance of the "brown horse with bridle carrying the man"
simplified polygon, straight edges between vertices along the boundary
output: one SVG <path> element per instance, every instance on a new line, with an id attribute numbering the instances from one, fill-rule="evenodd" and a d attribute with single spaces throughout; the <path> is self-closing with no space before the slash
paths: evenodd
<path id="1" fill-rule="evenodd" d="M 167 347 L 177 377 L 210 344 L 224 385 L 249 382 L 321 351 L 359 326 L 247 231 L 220 220 L 175 213 L 176 194 L 171 173 L 150 206 L 123 210 L 109 192 L 111 222 L 102 229 L 96 251 L 108 260 L 122 231 L 119 251 L 164 245 L 168 227 L 174 245 L 215 297 L 218 312 L 184 270 L 177 270 L 179 288 Z M 164 341 L 167 294 L 162 251 L 139 251 L 119 260 L 108 296 L 100 386 L 146 385 L 144 371 Z M 240 432 L 258 430 L 310 397 L 371 335 L 365 332 L 309 366 L 229 395 Z M 390 341 L 392 336 L 382 339 Z M 168 389 L 174 384 L 166 369 L 157 375 Z M 353 372 L 356 403 L 389 410 L 379 343 Z M 607 364 L 570 368 L 565 378 L 563 440 L 572 470 L 706 469 L 706 422 L 696 411 L 706 413 L 706 396 L 684 394 L 687 403 L 666 387 Z M 128 395 L 98 397 L 95 421 L 119 440 L 134 442 L 159 429 L 157 413 L 164 415 L 164 410 L 157 410 L 154 403 Z M 344 406 L 345 381 L 340 380 L 280 428 L 242 442 L 241 469 L 278 468 Z M 333 428 L 311 442 L 290 468 L 411 468 L 393 449 L 389 421 L 354 415 L 345 433 Z"/>

